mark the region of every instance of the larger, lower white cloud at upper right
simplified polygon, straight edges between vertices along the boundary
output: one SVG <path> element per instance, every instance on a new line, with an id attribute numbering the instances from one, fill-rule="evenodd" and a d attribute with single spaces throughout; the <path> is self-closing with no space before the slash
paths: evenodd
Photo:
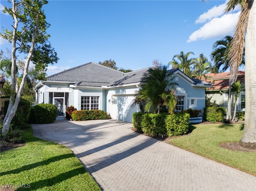
<path id="1" fill-rule="evenodd" d="M 220 18 L 214 18 L 206 23 L 199 30 L 193 32 L 187 42 L 197 41 L 200 39 L 210 39 L 212 37 L 223 37 L 233 35 L 240 12 L 225 14 Z"/>

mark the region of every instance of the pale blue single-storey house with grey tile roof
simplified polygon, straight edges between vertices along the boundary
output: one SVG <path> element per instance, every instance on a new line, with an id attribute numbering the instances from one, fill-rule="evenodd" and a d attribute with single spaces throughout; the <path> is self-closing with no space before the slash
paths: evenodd
<path id="1" fill-rule="evenodd" d="M 77 110 L 100 109 L 113 119 L 132 122 L 132 114 L 139 106 L 131 107 L 135 91 L 144 83 L 143 75 L 149 68 L 122 73 L 96 63 L 87 63 L 48 76 L 36 89 L 37 103 L 52 103 L 58 107 L 58 118 L 64 118 L 67 106 Z M 174 75 L 177 109 L 201 109 L 205 106 L 205 88 L 210 83 L 192 79 L 179 69 L 168 72 Z"/>

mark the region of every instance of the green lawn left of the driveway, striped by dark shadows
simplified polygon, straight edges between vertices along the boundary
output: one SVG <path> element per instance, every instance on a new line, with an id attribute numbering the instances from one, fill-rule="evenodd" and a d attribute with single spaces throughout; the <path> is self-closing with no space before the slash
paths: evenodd
<path id="1" fill-rule="evenodd" d="M 100 190 L 82 163 L 66 147 L 24 131 L 26 146 L 1 152 L 0 186 L 14 184 L 30 191 Z"/>

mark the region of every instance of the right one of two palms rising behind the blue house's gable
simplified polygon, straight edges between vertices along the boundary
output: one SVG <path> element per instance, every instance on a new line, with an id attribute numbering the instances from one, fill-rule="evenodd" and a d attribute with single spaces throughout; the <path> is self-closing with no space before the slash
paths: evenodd
<path id="1" fill-rule="evenodd" d="M 208 62 L 207 57 L 204 54 L 200 54 L 196 59 L 194 69 L 192 71 L 192 77 L 201 80 L 203 77 L 206 78 L 206 73 L 210 72 L 211 64 Z"/>

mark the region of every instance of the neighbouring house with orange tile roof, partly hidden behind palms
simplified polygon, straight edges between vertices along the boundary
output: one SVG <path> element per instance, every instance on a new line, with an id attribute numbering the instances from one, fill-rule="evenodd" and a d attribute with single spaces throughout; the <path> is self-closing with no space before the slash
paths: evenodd
<path id="1" fill-rule="evenodd" d="M 228 82 L 230 78 L 230 72 L 225 73 L 210 73 L 206 74 L 206 77 L 209 77 L 207 79 L 207 82 L 212 82 L 212 87 L 206 89 L 206 96 L 208 98 L 211 98 L 211 101 L 214 102 L 216 100 L 216 104 L 218 106 L 222 106 L 228 110 Z M 240 83 L 244 83 L 244 71 L 238 71 L 238 78 L 237 81 L 240 81 Z M 231 110 L 234 111 L 234 98 L 233 94 L 231 95 L 232 98 L 232 104 L 231 104 Z M 244 111 L 245 110 L 245 92 L 242 92 L 240 97 L 238 98 L 238 105 L 237 110 L 238 111 Z"/>

